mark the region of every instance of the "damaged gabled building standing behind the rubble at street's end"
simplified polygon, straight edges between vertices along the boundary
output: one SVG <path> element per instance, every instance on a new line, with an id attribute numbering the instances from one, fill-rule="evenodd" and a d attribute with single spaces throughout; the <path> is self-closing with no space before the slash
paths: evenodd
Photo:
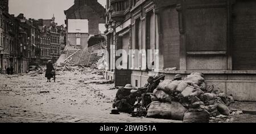
<path id="1" fill-rule="evenodd" d="M 64 11 L 67 25 L 67 44 L 76 49 L 88 48 L 90 36 L 103 31 L 105 8 L 96 0 L 75 0 L 74 5 Z"/>

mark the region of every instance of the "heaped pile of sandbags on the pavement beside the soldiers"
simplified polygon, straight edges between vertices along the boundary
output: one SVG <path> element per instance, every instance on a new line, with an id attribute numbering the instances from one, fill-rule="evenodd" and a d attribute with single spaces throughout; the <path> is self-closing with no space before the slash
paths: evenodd
<path id="1" fill-rule="evenodd" d="M 201 73 L 192 73 L 183 81 L 162 81 L 151 99 L 148 117 L 183 122 L 209 122 L 210 117 L 229 116 L 228 106 L 234 102 L 232 95 L 207 85 Z"/>

